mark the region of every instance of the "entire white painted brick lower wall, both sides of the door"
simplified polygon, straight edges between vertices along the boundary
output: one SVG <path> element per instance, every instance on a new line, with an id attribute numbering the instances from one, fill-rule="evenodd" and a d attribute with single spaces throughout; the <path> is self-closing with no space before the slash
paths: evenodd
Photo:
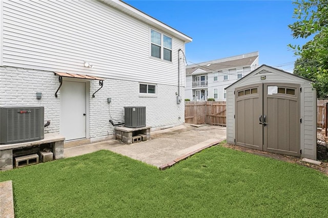
<path id="1" fill-rule="evenodd" d="M 60 90 L 58 98 L 55 98 L 58 87 L 58 76 L 54 72 L 0 67 L 0 106 L 44 106 L 45 122 L 51 121 L 45 133 L 59 133 Z M 156 97 L 140 97 L 139 82 L 105 79 L 103 88 L 92 98 L 99 88 L 98 80 L 90 81 L 91 139 L 113 136 L 114 127 L 109 120 L 124 122 L 124 106 L 146 106 L 146 125 L 152 130 L 180 125 L 185 121 L 185 102 L 176 103 L 177 86 L 157 84 Z M 42 93 L 42 99 L 36 99 L 37 92 Z M 180 87 L 182 100 L 184 94 L 183 87 Z M 107 98 L 112 98 L 110 105 Z"/>

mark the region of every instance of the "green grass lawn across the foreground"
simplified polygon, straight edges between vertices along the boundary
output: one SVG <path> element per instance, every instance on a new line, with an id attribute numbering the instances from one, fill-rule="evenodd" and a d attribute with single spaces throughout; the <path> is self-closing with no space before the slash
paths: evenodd
<path id="1" fill-rule="evenodd" d="M 328 177 L 214 146 L 157 168 L 101 150 L 0 172 L 15 217 L 328 217 Z"/>

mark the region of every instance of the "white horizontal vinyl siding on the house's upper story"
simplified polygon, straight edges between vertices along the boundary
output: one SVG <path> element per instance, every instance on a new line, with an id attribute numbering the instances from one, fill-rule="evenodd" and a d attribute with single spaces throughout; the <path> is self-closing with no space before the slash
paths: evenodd
<path id="1" fill-rule="evenodd" d="M 176 48 L 171 51 L 172 62 L 149 58 L 151 27 L 104 3 L 3 1 L 2 5 L 4 66 L 177 85 L 174 57 L 185 43 L 172 37 Z M 84 61 L 94 68 L 84 67 Z M 180 68 L 183 78 L 185 65 Z"/>

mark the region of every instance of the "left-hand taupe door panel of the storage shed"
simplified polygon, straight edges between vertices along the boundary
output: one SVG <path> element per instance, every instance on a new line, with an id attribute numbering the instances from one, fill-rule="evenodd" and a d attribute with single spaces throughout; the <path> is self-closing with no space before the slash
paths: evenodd
<path id="1" fill-rule="evenodd" d="M 235 92 L 237 145 L 262 150 L 261 93 L 261 85 L 244 86 Z"/>

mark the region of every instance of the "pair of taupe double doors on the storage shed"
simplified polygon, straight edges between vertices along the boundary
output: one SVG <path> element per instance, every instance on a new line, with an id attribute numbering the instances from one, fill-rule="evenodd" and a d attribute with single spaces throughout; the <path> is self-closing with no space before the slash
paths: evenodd
<path id="1" fill-rule="evenodd" d="M 260 83 L 235 90 L 236 144 L 299 156 L 299 84 Z"/>

